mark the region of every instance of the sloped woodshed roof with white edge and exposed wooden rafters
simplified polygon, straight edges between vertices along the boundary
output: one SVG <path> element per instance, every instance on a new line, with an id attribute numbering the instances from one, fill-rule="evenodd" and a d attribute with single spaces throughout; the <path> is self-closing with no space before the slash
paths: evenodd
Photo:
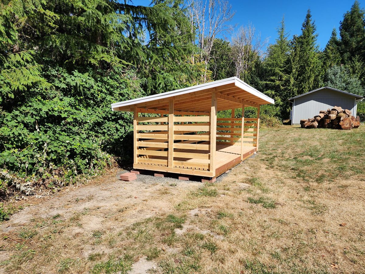
<path id="1" fill-rule="evenodd" d="M 180 90 L 164 92 L 111 104 L 114 111 L 139 111 L 149 113 L 168 113 L 169 98 L 174 97 L 174 111 L 209 113 L 211 92 L 216 90 L 217 110 L 236 109 L 246 106 L 258 107 L 262 104 L 273 104 L 274 100 L 246 84 L 237 77 L 195 85 Z M 199 115 L 199 114 L 198 114 Z"/>

